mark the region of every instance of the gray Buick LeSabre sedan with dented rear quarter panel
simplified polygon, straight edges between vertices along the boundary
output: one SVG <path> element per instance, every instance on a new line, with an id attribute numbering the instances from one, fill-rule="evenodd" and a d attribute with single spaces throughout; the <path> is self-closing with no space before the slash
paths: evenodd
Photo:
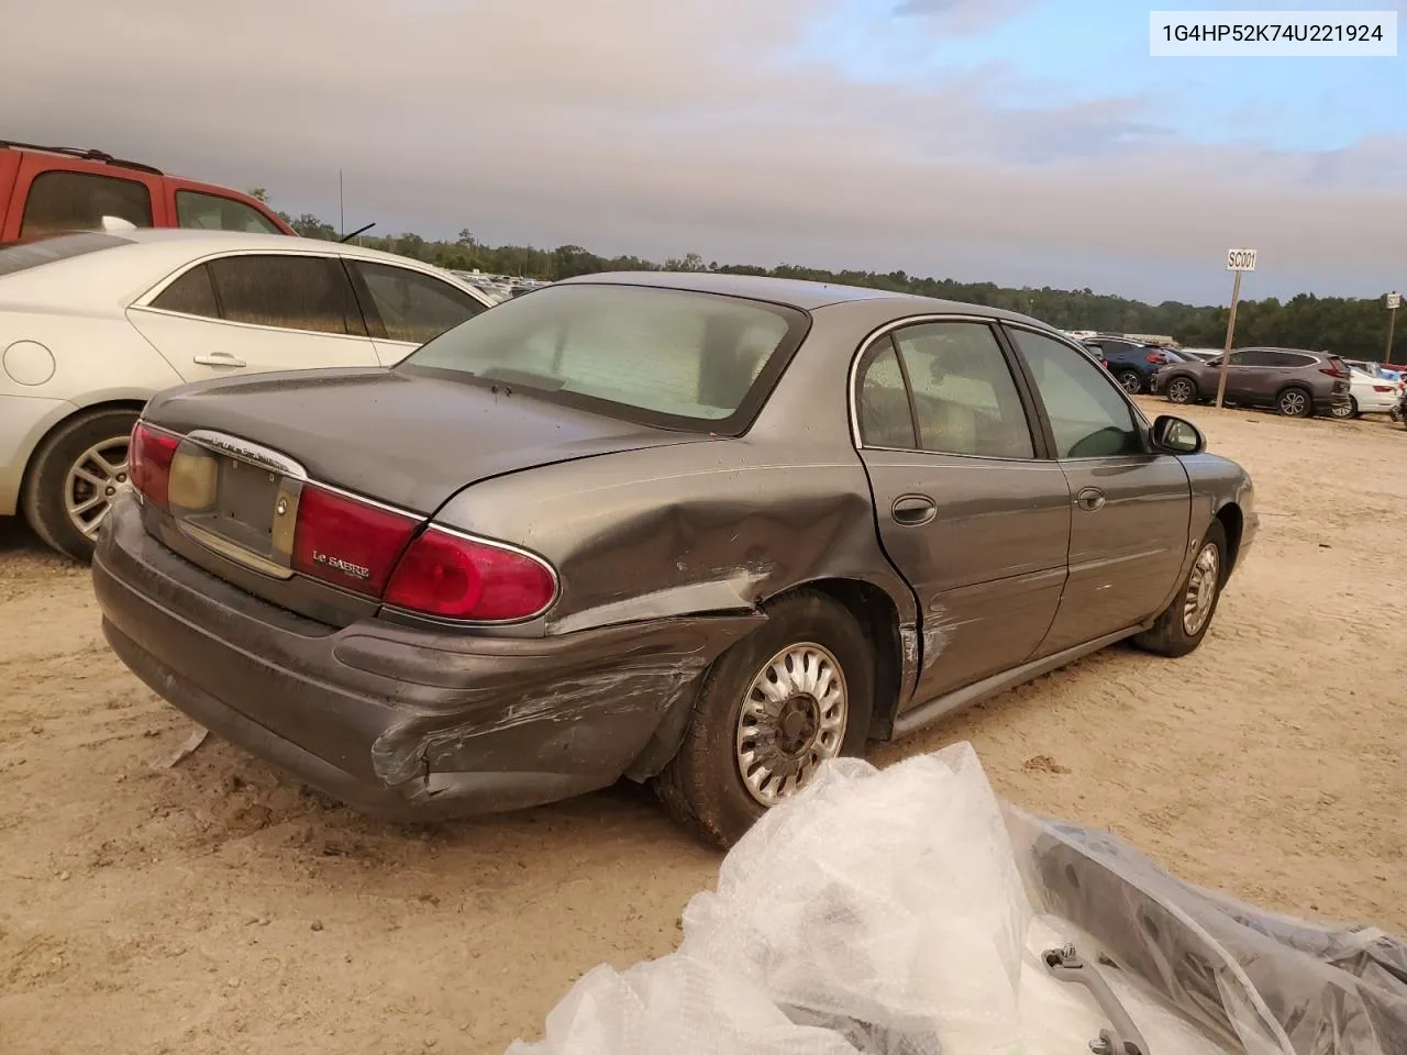
<path id="1" fill-rule="evenodd" d="M 590 276 L 153 398 L 93 578 L 148 685 L 366 812 L 628 776 L 727 844 L 826 758 L 1196 648 L 1256 528 L 1204 446 L 1020 315 Z"/>

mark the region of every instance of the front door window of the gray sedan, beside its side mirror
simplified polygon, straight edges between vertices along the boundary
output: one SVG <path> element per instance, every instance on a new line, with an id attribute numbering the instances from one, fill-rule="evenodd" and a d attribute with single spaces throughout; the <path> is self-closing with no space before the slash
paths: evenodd
<path id="1" fill-rule="evenodd" d="M 1031 371 L 1055 436 L 1055 457 L 1142 454 L 1133 411 L 1107 373 L 1064 342 L 1010 331 Z"/>

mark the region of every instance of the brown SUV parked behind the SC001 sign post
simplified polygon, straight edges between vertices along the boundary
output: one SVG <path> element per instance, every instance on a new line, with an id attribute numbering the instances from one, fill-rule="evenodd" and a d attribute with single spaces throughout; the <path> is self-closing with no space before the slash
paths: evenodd
<path id="1" fill-rule="evenodd" d="M 1216 399 L 1221 357 L 1206 363 L 1169 363 L 1154 377 L 1152 391 L 1175 404 Z M 1223 401 L 1237 407 L 1273 407 L 1289 418 L 1335 414 L 1351 407 L 1348 364 L 1328 352 L 1244 347 L 1227 363 Z M 1341 416 L 1341 411 L 1338 415 Z"/>

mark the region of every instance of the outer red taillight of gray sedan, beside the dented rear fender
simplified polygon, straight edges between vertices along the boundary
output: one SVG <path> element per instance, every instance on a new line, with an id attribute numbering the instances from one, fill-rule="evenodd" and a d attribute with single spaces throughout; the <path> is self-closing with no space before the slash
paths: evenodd
<path id="1" fill-rule="evenodd" d="M 539 615 L 556 592 L 542 561 L 428 528 L 401 557 L 384 601 L 440 619 L 502 622 Z"/>

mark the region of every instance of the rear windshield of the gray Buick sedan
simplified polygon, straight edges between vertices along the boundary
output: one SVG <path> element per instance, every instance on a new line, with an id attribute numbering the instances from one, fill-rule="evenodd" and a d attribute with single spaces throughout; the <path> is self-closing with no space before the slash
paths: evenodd
<path id="1" fill-rule="evenodd" d="M 663 428 L 739 435 L 809 316 L 708 293 L 573 283 L 481 312 L 398 370 L 530 390 Z"/>

